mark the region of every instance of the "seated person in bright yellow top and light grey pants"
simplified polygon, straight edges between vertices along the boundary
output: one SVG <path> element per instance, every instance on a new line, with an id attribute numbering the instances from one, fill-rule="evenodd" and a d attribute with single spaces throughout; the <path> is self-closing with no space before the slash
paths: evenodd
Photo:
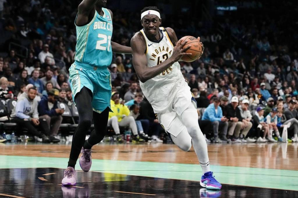
<path id="1" fill-rule="evenodd" d="M 130 111 L 126 105 L 124 105 L 124 101 L 119 100 L 119 93 L 112 92 L 111 97 L 111 109 L 113 112 L 109 113 L 108 126 L 112 126 L 116 135 L 117 142 L 122 142 L 122 135 L 120 135 L 119 126 L 125 127 L 129 126 L 133 133 L 132 142 L 145 142 L 145 140 L 141 139 L 138 135 L 138 129 L 136 127 L 136 121 L 134 117 L 129 116 Z"/>

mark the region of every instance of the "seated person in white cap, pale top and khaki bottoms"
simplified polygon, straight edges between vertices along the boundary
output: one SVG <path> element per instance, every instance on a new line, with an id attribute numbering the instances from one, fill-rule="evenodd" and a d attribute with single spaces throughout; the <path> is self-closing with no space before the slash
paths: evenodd
<path id="1" fill-rule="evenodd" d="M 256 141 L 255 139 L 251 139 L 249 137 L 246 138 L 247 133 L 252 128 L 252 122 L 251 122 L 252 114 L 248 110 L 248 107 L 249 107 L 249 100 L 247 99 L 242 100 L 241 107 L 240 106 L 238 107 L 240 109 L 240 115 L 242 117 L 242 127 L 241 127 L 240 138 L 246 139 L 247 142 L 255 142 Z"/>

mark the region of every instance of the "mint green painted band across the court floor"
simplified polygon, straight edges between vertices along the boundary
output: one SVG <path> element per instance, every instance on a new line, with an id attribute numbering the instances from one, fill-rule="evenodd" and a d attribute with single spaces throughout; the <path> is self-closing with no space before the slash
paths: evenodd
<path id="1" fill-rule="evenodd" d="M 65 169 L 67 161 L 67 158 L 0 155 L 0 168 Z M 78 163 L 76 167 L 80 170 Z M 215 165 L 211 166 L 211 170 L 222 184 L 298 191 L 298 171 L 294 170 Z M 91 171 L 192 181 L 200 181 L 201 177 L 201 167 L 196 164 L 93 159 Z"/>

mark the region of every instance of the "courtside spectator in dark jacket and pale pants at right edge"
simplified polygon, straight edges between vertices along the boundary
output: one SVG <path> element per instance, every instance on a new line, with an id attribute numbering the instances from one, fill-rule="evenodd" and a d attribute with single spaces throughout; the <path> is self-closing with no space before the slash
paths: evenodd
<path id="1" fill-rule="evenodd" d="M 290 100 L 288 109 L 285 110 L 284 114 L 287 118 L 287 121 L 283 124 L 286 125 L 291 122 L 291 126 L 288 128 L 289 131 L 294 131 L 294 137 L 292 138 L 293 142 L 298 141 L 297 133 L 298 133 L 298 112 L 296 110 L 296 100 Z"/>

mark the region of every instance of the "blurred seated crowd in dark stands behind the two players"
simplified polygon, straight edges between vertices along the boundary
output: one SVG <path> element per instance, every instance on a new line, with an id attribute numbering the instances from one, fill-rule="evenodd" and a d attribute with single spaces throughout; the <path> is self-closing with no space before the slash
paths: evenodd
<path id="1" fill-rule="evenodd" d="M 22 125 L 18 118 L 28 118 L 25 129 L 30 134 L 43 142 L 59 142 L 61 125 L 77 123 L 68 69 L 76 53 L 74 21 L 79 3 L 0 0 L 2 133 L 9 133 L 9 123 Z M 148 5 L 159 7 L 162 26 L 173 28 L 178 38 L 201 37 L 205 46 L 201 59 L 179 63 L 198 103 L 198 122 L 208 142 L 296 142 L 298 49 L 293 41 L 298 39 L 298 20 L 297 5 L 292 3 L 283 3 L 286 14 L 276 9 L 277 1 L 184 1 L 173 5 L 118 0 L 108 1 L 107 7 L 114 13 L 112 40 L 122 45 L 129 46 L 141 29 L 136 10 Z M 142 95 L 131 55 L 114 54 L 108 68 L 111 102 L 121 110 L 109 117 L 113 140 L 123 142 L 131 131 L 140 136 L 132 138 L 133 142 L 170 142 Z M 29 103 L 20 104 L 22 98 Z M 31 105 L 36 111 L 20 115 L 15 112 L 18 104 Z M 123 124 L 125 117 L 131 119 Z M 22 131 L 16 130 L 16 135 Z M 1 137 L 1 141 L 6 139 Z"/>

